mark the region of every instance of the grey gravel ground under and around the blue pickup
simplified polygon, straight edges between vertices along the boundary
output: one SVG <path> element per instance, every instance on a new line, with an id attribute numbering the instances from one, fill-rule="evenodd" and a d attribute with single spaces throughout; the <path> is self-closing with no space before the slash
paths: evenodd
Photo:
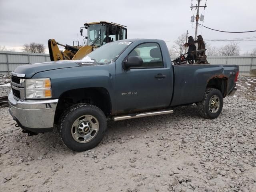
<path id="1" fill-rule="evenodd" d="M 0 191 L 256 192 L 256 78 L 240 77 L 238 88 L 214 120 L 192 105 L 109 120 L 86 152 L 66 148 L 56 131 L 28 137 L 0 108 Z"/>

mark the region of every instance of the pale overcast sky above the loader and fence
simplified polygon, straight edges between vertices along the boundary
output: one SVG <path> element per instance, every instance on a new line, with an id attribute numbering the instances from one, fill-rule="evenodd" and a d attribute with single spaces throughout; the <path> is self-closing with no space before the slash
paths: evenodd
<path id="1" fill-rule="evenodd" d="M 202 0 L 204 5 L 206 0 Z M 197 4 L 196 0 L 192 1 Z M 255 0 L 208 0 L 204 25 L 226 31 L 256 30 Z M 194 36 L 195 22 L 190 22 L 191 0 L 0 0 L 0 46 L 20 50 L 23 44 L 50 38 L 62 44 L 82 41 L 79 30 L 85 22 L 108 21 L 127 26 L 128 38 L 176 40 L 188 30 Z M 202 22 L 200 22 L 202 24 Z M 256 37 L 256 32 L 230 34 L 198 28 L 205 40 Z M 207 42 L 207 41 L 206 41 Z M 210 42 L 222 46 L 228 42 Z M 167 42 L 169 48 L 173 42 Z M 256 38 L 240 41 L 241 53 L 256 48 Z"/>

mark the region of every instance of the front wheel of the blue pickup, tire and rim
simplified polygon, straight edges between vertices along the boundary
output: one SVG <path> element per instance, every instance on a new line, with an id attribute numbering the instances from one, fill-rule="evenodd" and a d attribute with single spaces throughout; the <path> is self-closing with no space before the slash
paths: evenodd
<path id="1" fill-rule="evenodd" d="M 93 105 L 76 104 L 62 114 L 59 133 L 68 148 L 85 151 L 99 144 L 106 127 L 106 116 L 102 110 Z"/>

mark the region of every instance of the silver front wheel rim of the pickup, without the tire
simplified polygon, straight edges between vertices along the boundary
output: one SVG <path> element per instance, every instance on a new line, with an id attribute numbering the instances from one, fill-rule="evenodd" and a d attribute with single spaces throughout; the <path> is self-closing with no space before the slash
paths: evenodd
<path id="1" fill-rule="evenodd" d="M 96 117 L 92 115 L 82 115 L 72 124 L 71 134 L 76 142 L 87 143 L 96 137 L 98 130 L 99 122 Z"/>

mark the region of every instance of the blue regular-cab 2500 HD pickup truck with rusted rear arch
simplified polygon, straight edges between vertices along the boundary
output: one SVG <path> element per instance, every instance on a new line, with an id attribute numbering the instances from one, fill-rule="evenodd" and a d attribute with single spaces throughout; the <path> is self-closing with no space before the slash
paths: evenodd
<path id="1" fill-rule="evenodd" d="M 171 62 L 155 39 L 110 42 L 82 60 L 18 66 L 8 96 L 10 114 L 29 135 L 57 127 L 75 151 L 96 146 L 106 118 L 125 120 L 170 114 L 196 103 L 204 118 L 217 118 L 223 98 L 234 94 L 238 66 Z"/>

